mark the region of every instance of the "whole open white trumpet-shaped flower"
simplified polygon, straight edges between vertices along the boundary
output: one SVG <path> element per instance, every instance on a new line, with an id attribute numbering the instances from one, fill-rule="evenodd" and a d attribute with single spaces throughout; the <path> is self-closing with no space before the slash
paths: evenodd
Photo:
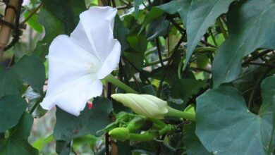
<path id="1" fill-rule="evenodd" d="M 49 80 L 43 109 L 55 105 L 75 116 L 89 99 L 102 94 L 103 79 L 117 66 L 121 44 L 114 39 L 117 10 L 92 6 L 80 14 L 71 36 L 59 35 L 49 46 Z"/>

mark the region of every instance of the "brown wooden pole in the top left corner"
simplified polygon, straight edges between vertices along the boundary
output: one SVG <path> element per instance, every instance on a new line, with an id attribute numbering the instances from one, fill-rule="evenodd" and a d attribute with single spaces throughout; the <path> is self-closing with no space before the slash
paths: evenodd
<path id="1" fill-rule="evenodd" d="M 8 5 L 14 6 L 18 10 L 18 0 L 10 0 Z M 8 23 L 14 23 L 14 18 L 16 18 L 16 11 L 11 7 L 6 8 L 4 20 Z M 11 29 L 11 26 L 2 23 L 0 30 L 0 61 L 3 56 L 3 49 L 11 37 Z"/>

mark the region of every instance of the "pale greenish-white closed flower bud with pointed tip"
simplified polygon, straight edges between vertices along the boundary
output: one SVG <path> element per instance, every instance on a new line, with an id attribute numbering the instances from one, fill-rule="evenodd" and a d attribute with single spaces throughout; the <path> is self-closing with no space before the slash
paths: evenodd
<path id="1" fill-rule="evenodd" d="M 148 118 L 164 118 L 169 112 L 166 101 L 149 94 L 112 94 L 111 98 Z"/>

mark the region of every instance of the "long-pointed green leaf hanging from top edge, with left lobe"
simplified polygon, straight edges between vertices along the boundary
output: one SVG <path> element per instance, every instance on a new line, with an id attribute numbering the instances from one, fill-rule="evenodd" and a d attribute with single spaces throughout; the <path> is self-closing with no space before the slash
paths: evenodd
<path id="1" fill-rule="evenodd" d="M 216 18 L 228 11 L 228 7 L 234 0 L 177 0 L 169 4 L 159 6 L 167 13 L 180 14 L 187 31 L 187 54 L 183 68 L 188 65 L 193 51 L 202 39 L 209 26 L 216 23 Z"/>

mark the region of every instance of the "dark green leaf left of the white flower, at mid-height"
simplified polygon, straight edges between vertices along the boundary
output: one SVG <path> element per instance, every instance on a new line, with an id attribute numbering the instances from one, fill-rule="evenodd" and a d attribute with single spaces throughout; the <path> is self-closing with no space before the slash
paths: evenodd
<path id="1" fill-rule="evenodd" d="M 20 94 L 25 82 L 42 94 L 45 76 L 44 64 L 37 56 L 23 56 L 11 68 L 0 68 L 0 97 Z"/>

